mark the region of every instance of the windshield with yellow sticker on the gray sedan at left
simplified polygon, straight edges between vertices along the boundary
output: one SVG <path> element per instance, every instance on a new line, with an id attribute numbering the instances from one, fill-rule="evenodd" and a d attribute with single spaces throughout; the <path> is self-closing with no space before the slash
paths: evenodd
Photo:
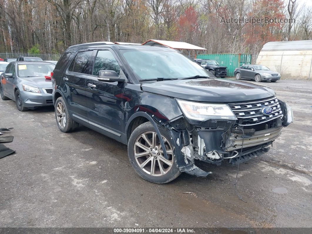
<path id="1" fill-rule="evenodd" d="M 38 77 L 50 75 L 55 65 L 53 64 L 18 64 L 19 77 Z"/>

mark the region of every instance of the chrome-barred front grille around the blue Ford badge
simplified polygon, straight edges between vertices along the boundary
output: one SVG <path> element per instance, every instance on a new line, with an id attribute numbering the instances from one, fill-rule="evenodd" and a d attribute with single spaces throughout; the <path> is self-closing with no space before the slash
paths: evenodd
<path id="1" fill-rule="evenodd" d="M 276 97 L 261 101 L 228 103 L 228 105 L 236 115 L 240 126 L 256 125 L 283 117 Z M 260 112 L 262 107 L 271 107 L 273 112 L 270 115 L 264 115 Z"/>

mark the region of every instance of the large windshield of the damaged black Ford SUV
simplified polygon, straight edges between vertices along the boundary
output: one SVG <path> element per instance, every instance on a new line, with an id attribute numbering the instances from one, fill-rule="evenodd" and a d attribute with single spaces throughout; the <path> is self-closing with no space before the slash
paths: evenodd
<path id="1" fill-rule="evenodd" d="M 179 52 L 153 50 L 120 50 L 139 79 L 212 77 L 197 62 Z"/>

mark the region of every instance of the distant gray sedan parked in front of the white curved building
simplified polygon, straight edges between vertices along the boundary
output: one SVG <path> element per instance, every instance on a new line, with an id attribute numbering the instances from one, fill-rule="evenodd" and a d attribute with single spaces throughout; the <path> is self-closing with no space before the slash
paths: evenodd
<path id="1" fill-rule="evenodd" d="M 256 82 L 276 82 L 280 79 L 280 73 L 271 71 L 264 65 L 243 65 L 235 69 L 234 75 L 236 80 L 245 78 L 255 80 Z"/>

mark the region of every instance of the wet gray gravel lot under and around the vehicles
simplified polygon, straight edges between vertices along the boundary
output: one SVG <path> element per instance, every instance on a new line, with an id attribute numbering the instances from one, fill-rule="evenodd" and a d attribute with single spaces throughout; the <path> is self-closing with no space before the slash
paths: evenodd
<path id="1" fill-rule="evenodd" d="M 261 84 L 293 107 L 295 122 L 241 164 L 246 203 L 236 167 L 205 164 L 206 178 L 153 184 L 125 145 L 82 126 L 60 132 L 53 108 L 19 112 L 0 100 L 0 127 L 14 127 L 5 145 L 16 150 L 0 159 L 0 227 L 311 227 L 312 81 Z"/>

